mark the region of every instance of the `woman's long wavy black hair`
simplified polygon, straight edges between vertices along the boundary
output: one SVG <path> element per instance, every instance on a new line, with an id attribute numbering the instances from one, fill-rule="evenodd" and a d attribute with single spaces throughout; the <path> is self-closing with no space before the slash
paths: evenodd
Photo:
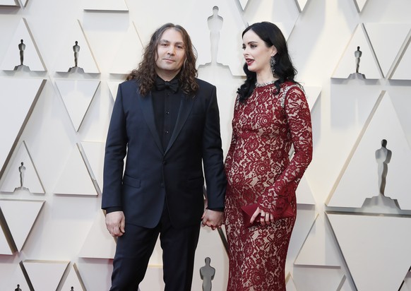
<path id="1" fill-rule="evenodd" d="M 258 35 L 258 37 L 266 43 L 267 47 L 274 46 L 277 49 L 277 54 L 275 54 L 275 76 L 278 77 L 278 80 L 275 81 L 274 85 L 277 88 L 277 93 L 280 91 L 280 85 L 285 81 L 294 81 L 295 75 L 297 75 L 297 70 L 292 66 L 292 61 L 290 55 L 288 54 L 287 42 L 285 41 L 284 35 L 280 28 L 277 25 L 264 21 L 260 23 L 254 23 L 246 28 L 244 34 L 252 30 Z M 239 95 L 239 101 L 245 102 L 251 93 L 253 93 L 254 88 L 256 88 L 257 76 L 255 72 L 251 72 L 248 69 L 247 64 L 243 66 L 244 73 L 246 73 L 246 81 L 240 86 L 237 90 Z"/>

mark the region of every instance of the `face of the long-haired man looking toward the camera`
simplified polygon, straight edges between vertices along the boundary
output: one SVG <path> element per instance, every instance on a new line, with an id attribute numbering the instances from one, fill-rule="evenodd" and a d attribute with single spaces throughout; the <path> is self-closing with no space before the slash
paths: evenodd
<path id="1" fill-rule="evenodd" d="M 160 78 L 169 81 L 179 73 L 186 59 L 186 47 L 178 30 L 168 28 L 163 32 L 157 47 L 155 71 Z"/>

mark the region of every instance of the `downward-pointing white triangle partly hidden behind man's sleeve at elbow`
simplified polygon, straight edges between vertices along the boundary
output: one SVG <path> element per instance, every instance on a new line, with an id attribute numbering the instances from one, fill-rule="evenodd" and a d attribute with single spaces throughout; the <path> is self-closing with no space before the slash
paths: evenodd
<path id="1" fill-rule="evenodd" d="M 97 192 L 102 194 L 103 166 L 105 158 L 105 143 L 83 141 L 81 143 L 84 152 L 83 160 L 87 161 L 90 176 L 97 182 Z"/>

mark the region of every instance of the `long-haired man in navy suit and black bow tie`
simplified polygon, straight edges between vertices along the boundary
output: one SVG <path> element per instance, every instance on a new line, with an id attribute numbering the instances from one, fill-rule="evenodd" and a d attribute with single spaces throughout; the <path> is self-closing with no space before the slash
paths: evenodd
<path id="1" fill-rule="evenodd" d="M 191 290 L 200 222 L 222 225 L 226 179 L 217 97 L 215 86 L 196 78 L 195 64 L 186 30 L 167 23 L 119 85 L 102 194 L 107 230 L 118 237 L 112 291 L 138 290 L 159 234 L 166 290 Z"/>

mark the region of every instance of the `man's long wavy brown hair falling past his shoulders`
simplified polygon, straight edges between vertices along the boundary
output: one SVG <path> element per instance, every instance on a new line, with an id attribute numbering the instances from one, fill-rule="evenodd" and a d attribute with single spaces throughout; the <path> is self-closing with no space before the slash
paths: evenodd
<path id="1" fill-rule="evenodd" d="M 161 40 L 162 34 L 167 29 L 174 29 L 181 33 L 181 37 L 184 42 L 185 61 L 181 67 L 181 71 L 178 74 L 178 80 L 181 90 L 186 95 L 193 96 L 198 90 L 198 84 L 196 82 L 197 69 L 196 69 L 196 49 L 193 47 L 189 33 L 181 26 L 174 25 L 173 23 L 166 23 L 162 27 L 155 30 L 151 36 L 150 42 L 144 49 L 143 60 L 138 65 L 138 69 L 133 70 L 127 80 L 136 78 L 140 85 L 140 93 L 145 96 L 153 88 L 155 84 L 155 62 L 157 61 L 157 47 Z"/>

